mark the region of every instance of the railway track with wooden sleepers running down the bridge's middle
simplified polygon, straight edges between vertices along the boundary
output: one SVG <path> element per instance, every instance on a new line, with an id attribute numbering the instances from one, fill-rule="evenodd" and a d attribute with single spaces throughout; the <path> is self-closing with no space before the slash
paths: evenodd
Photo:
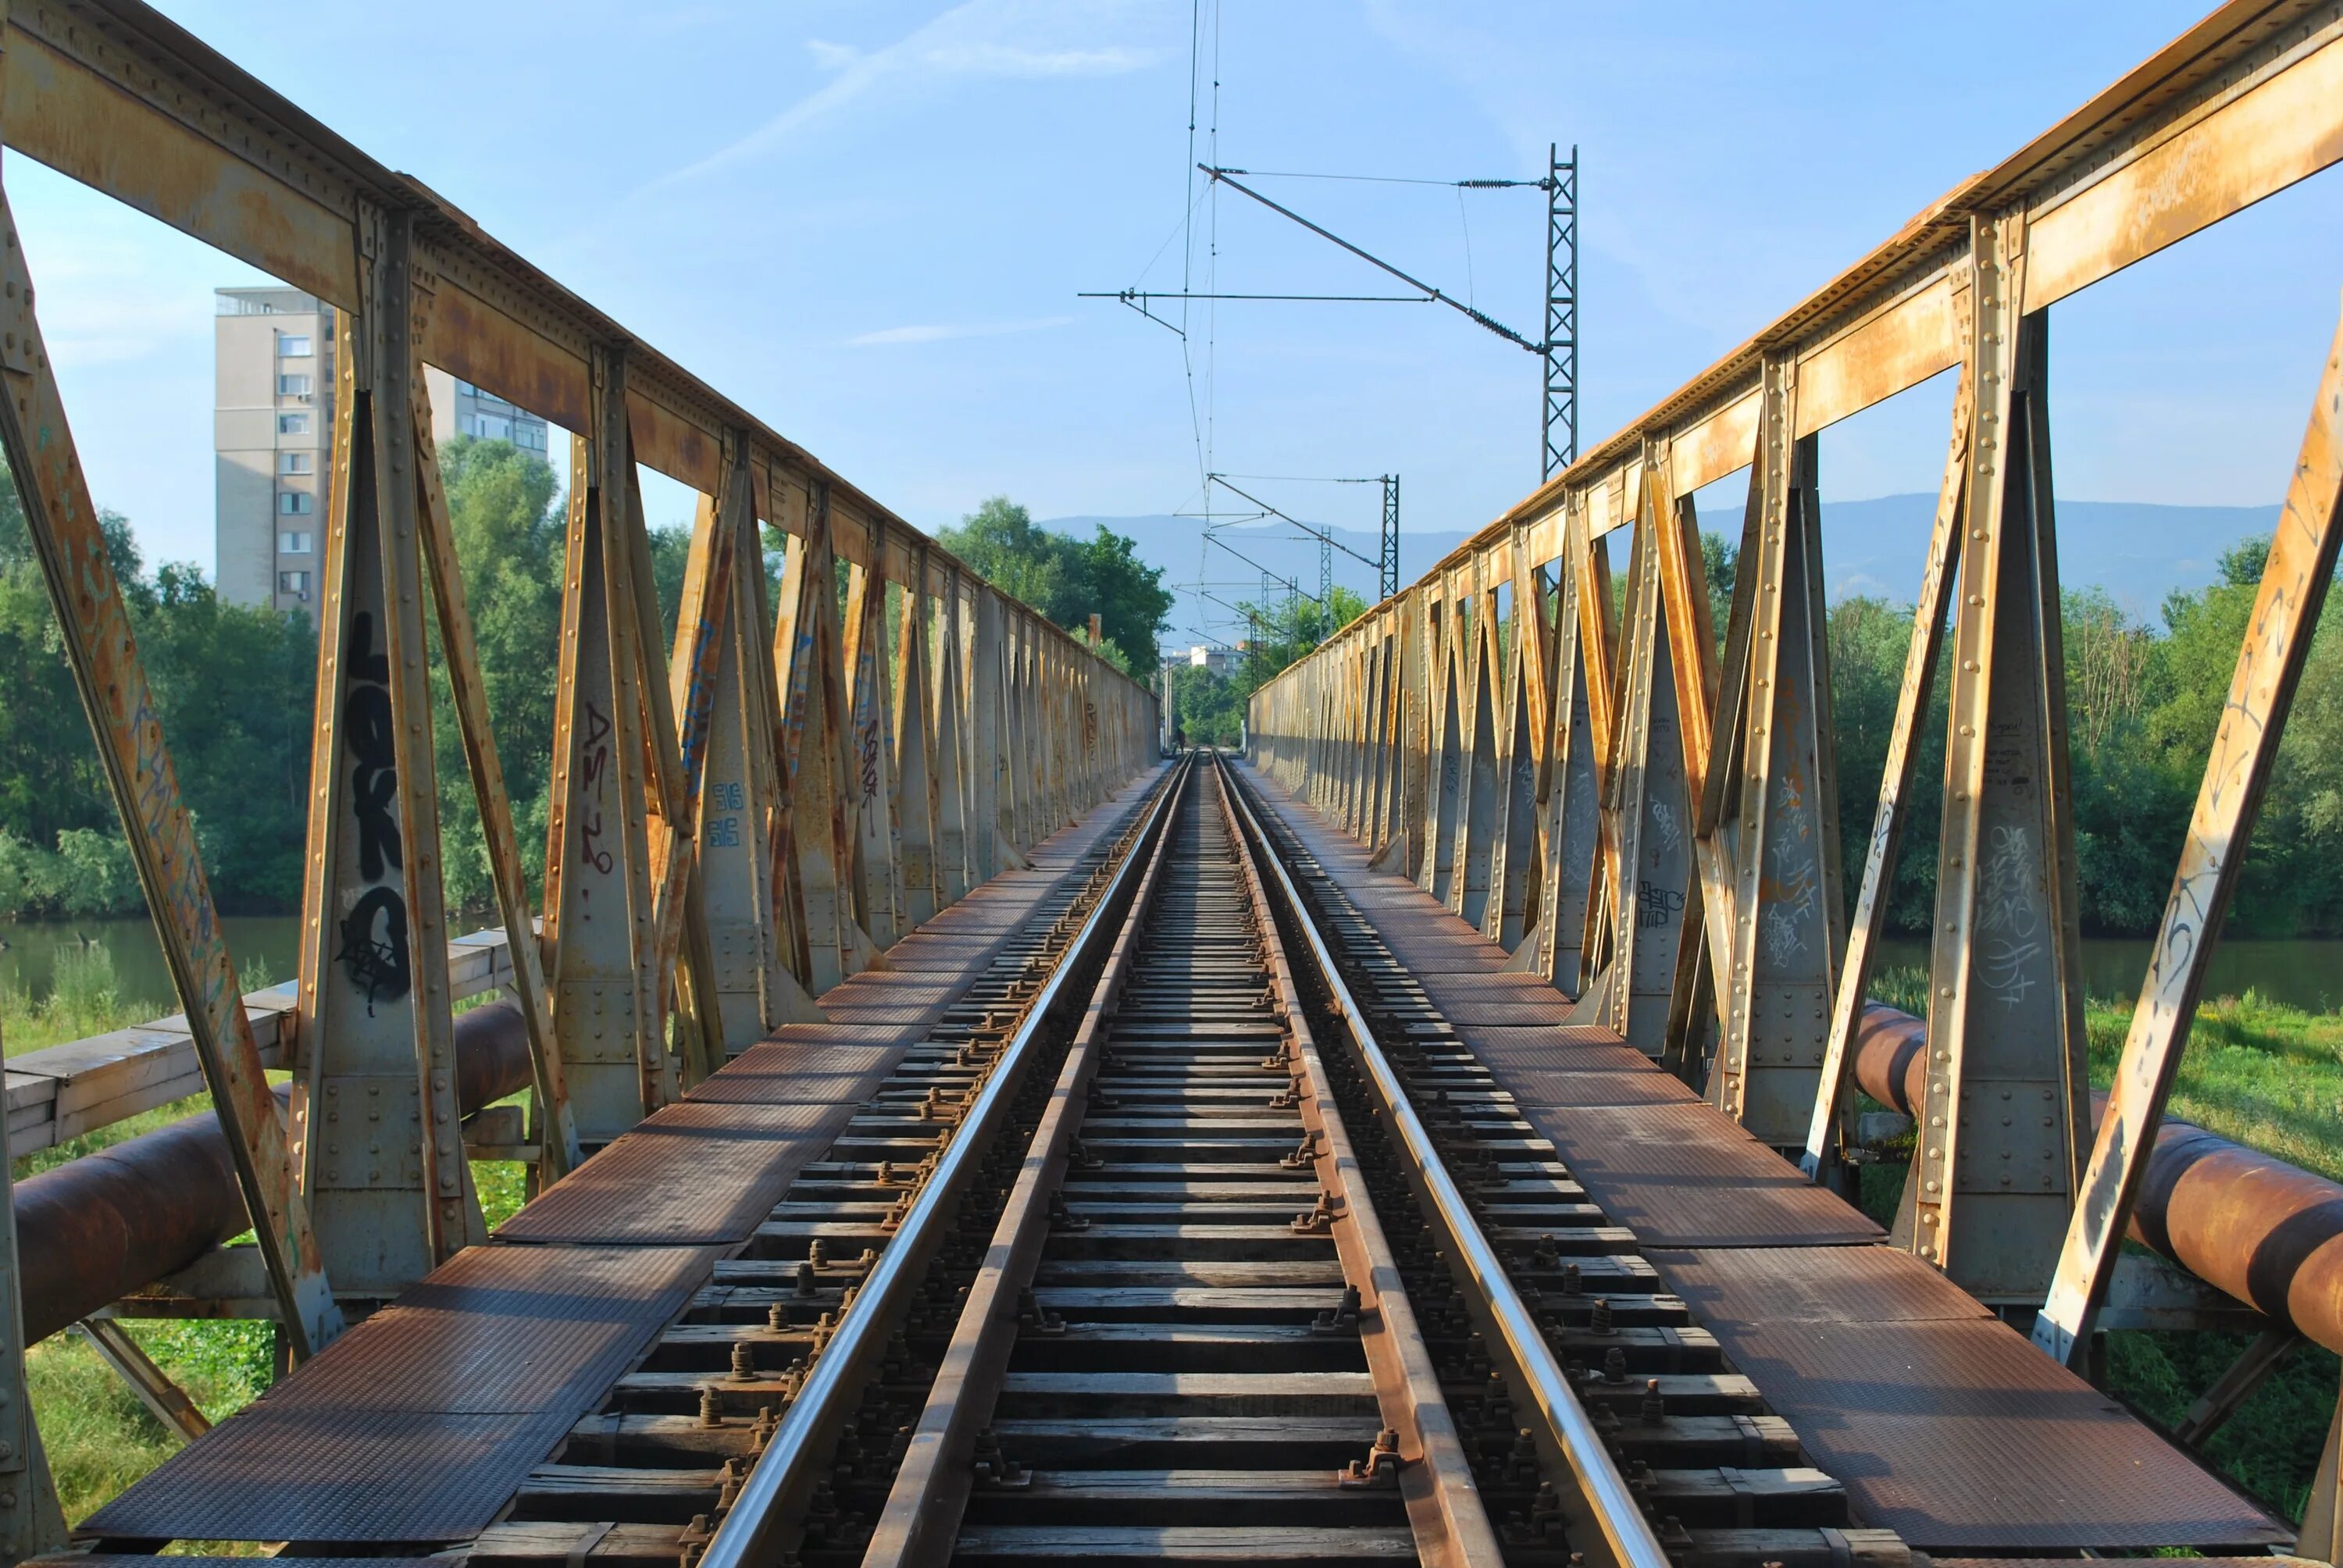
<path id="1" fill-rule="evenodd" d="M 1910 1561 L 1230 769 L 1043 914 L 476 1563 Z"/>

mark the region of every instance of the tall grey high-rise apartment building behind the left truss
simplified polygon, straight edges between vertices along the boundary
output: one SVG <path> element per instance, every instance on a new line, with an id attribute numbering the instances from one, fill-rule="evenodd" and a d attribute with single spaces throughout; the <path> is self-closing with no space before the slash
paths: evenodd
<path id="1" fill-rule="evenodd" d="M 333 466 L 333 305 L 300 288 L 220 288 L 213 323 L 213 584 L 232 605 L 316 607 Z M 424 370 L 431 436 L 546 455 L 537 415 Z"/>

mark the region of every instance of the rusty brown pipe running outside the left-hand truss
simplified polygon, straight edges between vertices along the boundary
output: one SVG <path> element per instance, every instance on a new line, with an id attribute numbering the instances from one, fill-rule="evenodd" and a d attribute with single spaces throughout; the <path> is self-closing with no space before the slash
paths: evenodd
<path id="1" fill-rule="evenodd" d="M 520 1010 L 457 1015 L 457 1104 L 469 1116 L 530 1088 Z M 291 1085 L 276 1090 L 279 1102 Z M 251 1228 L 220 1118 L 187 1116 L 16 1184 L 26 1343 L 152 1284 Z"/>

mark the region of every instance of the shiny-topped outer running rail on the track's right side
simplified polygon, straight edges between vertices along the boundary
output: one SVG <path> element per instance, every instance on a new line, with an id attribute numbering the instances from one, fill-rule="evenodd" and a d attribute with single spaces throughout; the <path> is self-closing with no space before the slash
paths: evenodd
<path id="1" fill-rule="evenodd" d="M 1228 769 L 1228 776 L 1235 778 L 1235 771 Z M 1415 1116 L 1415 1106 L 1408 1099 L 1399 1073 L 1392 1071 L 1392 1062 L 1382 1055 L 1382 1045 L 1375 1043 L 1373 1029 L 1366 1027 L 1366 1015 L 1359 1010 L 1350 987 L 1343 982 L 1343 970 L 1336 963 L 1333 952 L 1326 947 L 1326 938 L 1319 933 L 1317 921 L 1310 916 L 1310 907 L 1303 902 L 1300 888 L 1293 886 L 1293 877 L 1286 874 L 1268 830 L 1261 825 L 1261 818 L 1254 816 L 1254 806 L 1246 799 L 1242 780 L 1239 788 L 1230 790 L 1230 797 L 1237 802 L 1237 811 L 1251 827 L 1254 839 L 1258 839 L 1263 848 L 1261 860 L 1270 872 L 1275 872 L 1277 886 L 1284 891 L 1286 907 L 1293 912 L 1296 928 L 1310 942 L 1310 954 L 1326 982 L 1331 1010 L 1343 1020 L 1359 1050 L 1368 1083 L 1375 1088 L 1375 1097 L 1382 1102 L 1382 1111 L 1392 1120 L 1392 1134 L 1399 1139 L 1406 1158 L 1415 1165 L 1432 1209 L 1455 1240 L 1457 1261 L 1471 1275 L 1471 1284 L 1485 1303 L 1492 1327 L 1504 1338 L 1530 1397 L 1537 1402 L 1537 1409 L 1546 1420 L 1549 1434 L 1560 1446 L 1563 1460 L 1579 1484 L 1579 1493 L 1589 1509 L 1589 1523 L 1600 1530 L 1607 1561 L 1617 1568 L 1668 1568 L 1668 1554 L 1652 1533 L 1652 1523 L 1642 1516 L 1642 1505 L 1635 1500 L 1633 1488 L 1628 1488 L 1626 1477 L 1612 1460 L 1610 1448 L 1603 1444 L 1603 1434 L 1586 1413 L 1586 1406 L 1579 1404 L 1577 1392 L 1570 1388 L 1570 1378 L 1553 1359 L 1553 1348 L 1546 1345 L 1546 1336 L 1537 1327 L 1537 1317 L 1521 1298 L 1521 1291 L 1514 1289 L 1514 1280 L 1507 1273 L 1504 1261 L 1497 1256 L 1488 1235 L 1483 1235 L 1481 1221 L 1474 1219 L 1471 1205 L 1464 1200 L 1464 1191 L 1455 1184 L 1455 1177 L 1448 1174 L 1448 1165 L 1432 1144 L 1432 1132 L 1425 1127 L 1422 1118 Z M 1582 1538 L 1577 1545 L 1586 1549 L 1596 1542 Z"/>

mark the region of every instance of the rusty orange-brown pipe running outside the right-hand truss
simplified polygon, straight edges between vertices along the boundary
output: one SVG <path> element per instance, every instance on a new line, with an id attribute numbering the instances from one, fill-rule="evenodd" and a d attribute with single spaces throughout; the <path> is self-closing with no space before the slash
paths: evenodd
<path id="1" fill-rule="evenodd" d="M 1912 1116 L 1928 1080 L 1928 1027 L 1870 1003 L 1856 1027 L 1856 1083 Z M 2090 1116 L 2106 1111 L 2092 1092 Z M 2179 1263 L 2303 1338 L 2343 1350 L 2343 1186 L 2165 1118 L 2132 1209 L 2130 1240 Z"/>

